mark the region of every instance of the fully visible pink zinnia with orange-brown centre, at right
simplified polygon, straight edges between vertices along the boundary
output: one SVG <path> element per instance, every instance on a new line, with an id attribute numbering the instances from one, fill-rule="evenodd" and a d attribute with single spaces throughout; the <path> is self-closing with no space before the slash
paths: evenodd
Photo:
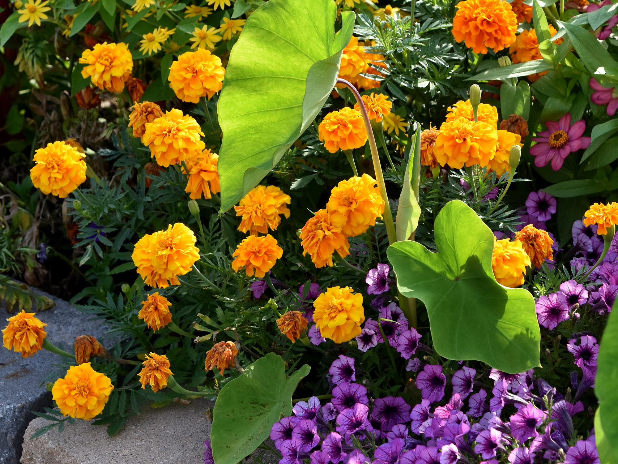
<path id="1" fill-rule="evenodd" d="M 570 113 L 562 116 L 560 121 L 546 122 L 545 126 L 549 131 L 539 132 L 538 137 L 533 137 L 532 140 L 538 143 L 530 148 L 530 155 L 536 157 L 535 165 L 538 168 L 551 161 L 552 170 L 558 171 L 569 153 L 590 146 L 590 137 L 582 137 L 586 123 L 577 121 L 571 126 Z"/>

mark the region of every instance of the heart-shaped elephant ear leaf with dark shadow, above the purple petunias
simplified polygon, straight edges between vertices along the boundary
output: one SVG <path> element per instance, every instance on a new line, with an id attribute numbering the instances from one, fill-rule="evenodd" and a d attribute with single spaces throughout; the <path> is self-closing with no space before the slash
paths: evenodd
<path id="1" fill-rule="evenodd" d="M 397 286 L 427 308 L 434 348 L 448 359 L 476 359 L 509 374 L 540 366 L 535 300 L 523 288 L 497 283 L 494 235 L 472 208 L 446 204 L 434 226 L 437 253 L 397 242 L 387 254 Z"/>

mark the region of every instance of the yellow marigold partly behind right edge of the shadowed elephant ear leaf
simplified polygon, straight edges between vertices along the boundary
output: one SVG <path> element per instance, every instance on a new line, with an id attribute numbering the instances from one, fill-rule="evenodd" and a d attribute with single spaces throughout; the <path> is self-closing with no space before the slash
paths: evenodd
<path id="1" fill-rule="evenodd" d="M 498 283 L 515 288 L 522 285 L 526 267 L 530 267 L 530 257 L 519 240 L 494 238 L 494 252 L 491 267 Z"/>

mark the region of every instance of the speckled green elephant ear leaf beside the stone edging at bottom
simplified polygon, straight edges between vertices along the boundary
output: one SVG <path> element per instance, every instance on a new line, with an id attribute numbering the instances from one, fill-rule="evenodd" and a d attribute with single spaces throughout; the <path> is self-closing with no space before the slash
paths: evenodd
<path id="1" fill-rule="evenodd" d="M 210 434 L 216 464 L 237 464 L 268 438 L 281 416 L 292 414 L 292 393 L 307 376 L 305 364 L 286 377 L 283 359 L 268 353 L 228 382 L 213 410 Z"/>

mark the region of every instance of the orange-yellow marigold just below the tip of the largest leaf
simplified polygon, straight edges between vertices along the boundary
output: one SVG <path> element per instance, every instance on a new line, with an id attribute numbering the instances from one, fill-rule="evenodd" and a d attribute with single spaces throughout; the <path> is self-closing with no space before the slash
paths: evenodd
<path id="1" fill-rule="evenodd" d="M 268 233 L 268 229 L 277 230 L 281 223 L 281 214 L 290 217 L 290 195 L 273 185 L 258 185 L 235 206 L 236 215 L 242 217 L 238 230 L 244 233 Z"/>

